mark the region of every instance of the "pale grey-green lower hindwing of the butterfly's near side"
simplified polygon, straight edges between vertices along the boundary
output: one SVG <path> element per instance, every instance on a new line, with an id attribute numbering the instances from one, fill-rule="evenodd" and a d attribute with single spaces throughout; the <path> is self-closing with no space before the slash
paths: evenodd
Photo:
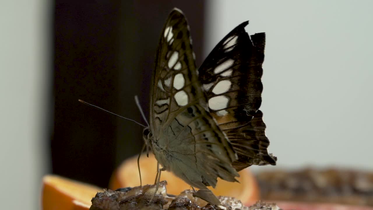
<path id="1" fill-rule="evenodd" d="M 199 105 L 189 106 L 179 112 L 157 138 L 150 141 L 154 155 L 166 170 L 200 189 L 215 186 L 216 177 L 235 181 L 234 176 L 238 176 L 231 166 L 232 160 L 236 160 L 235 153 L 233 150 L 228 153 L 218 145 L 221 144 L 219 141 L 225 140 L 224 135 L 213 132 L 213 129 L 217 129 L 216 122 L 211 117 L 205 117 L 207 114 Z M 192 137 L 191 134 L 195 133 L 203 139 Z M 218 134 L 221 139 L 216 139 Z M 214 164 L 218 165 L 216 169 L 213 168 Z M 219 175 L 219 167 L 225 168 L 228 173 Z M 214 174 L 211 176 L 209 173 Z"/>

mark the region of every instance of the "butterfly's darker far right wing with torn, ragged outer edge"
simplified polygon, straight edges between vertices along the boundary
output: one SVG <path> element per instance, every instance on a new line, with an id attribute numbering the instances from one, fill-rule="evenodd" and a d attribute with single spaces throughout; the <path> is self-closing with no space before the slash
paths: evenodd
<path id="1" fill-rule="evenodd" d="M 238 160 L 232 163 L 237 171 L 253 164 L 276 164 L 276 157 L 267 152 L 266 125 L 258 110 L 265 34 L 254 34 L 250 40 L 246 25 L 248 21 L 226 35 L 198 69 L 210 113 L 237 152 Z"/>

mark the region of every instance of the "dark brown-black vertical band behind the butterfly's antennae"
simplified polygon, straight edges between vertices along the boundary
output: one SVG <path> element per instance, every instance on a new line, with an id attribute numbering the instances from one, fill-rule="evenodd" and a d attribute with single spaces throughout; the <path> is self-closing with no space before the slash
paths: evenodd
<path id="1" fill-rule="evenodd" d="M 55 1 L 53 173 L 107 187 L 116 166 L 140 152 L 141 126 L 78 99 L 145 124 L 134 95 L 148 116 L 154 56 L 173 7 L 188 18 L 198 66 L 203 1 Z"/>

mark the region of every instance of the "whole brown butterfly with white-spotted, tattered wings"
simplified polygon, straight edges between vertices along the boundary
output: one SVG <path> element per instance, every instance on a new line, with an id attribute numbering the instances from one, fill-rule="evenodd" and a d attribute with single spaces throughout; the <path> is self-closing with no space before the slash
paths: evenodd
<path id="1" fill-rule="evenodd" d="M 275 165 L 261 105 L 265 34 L 250 36 L 243 22 L 196 68 L 189 26 L 173 9 L 163 27 L 151 80 L 150 127 L 143 131 L 160 172 L 192 187 L 235 182 L 251 165 Z"/>

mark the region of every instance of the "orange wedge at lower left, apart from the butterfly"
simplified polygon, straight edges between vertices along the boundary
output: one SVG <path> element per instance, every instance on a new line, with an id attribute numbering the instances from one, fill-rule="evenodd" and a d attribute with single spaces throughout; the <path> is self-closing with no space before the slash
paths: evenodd
<path id="1" fill-rule="evenodd" d="M 43 210 L 88 210 L 103 189 L 56 175 L 43 177 Z"/>

